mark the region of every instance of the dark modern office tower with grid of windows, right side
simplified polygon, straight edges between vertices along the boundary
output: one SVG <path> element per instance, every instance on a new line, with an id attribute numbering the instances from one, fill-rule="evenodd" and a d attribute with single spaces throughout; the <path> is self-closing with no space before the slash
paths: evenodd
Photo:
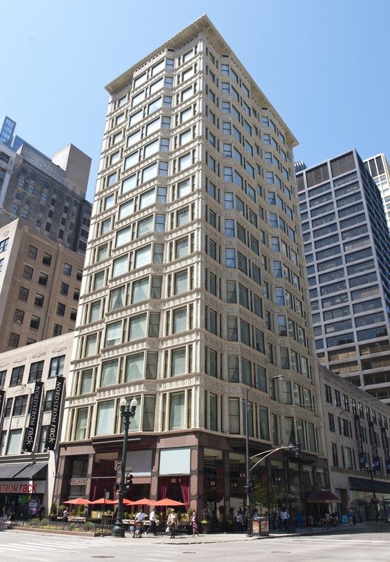
<path id="1" fill-rule="evenodd" d="M 356 150 L 297 174 L 320 362 L 390 402 L 390 235 Z"/>

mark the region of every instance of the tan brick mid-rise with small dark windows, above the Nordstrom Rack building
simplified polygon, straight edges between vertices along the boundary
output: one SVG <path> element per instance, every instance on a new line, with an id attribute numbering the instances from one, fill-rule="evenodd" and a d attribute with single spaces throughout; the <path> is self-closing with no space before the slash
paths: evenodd
<path id="1" fill-rule="evenodd" d="M 0 352 L 73 331 L 84 256 L 28 228 L 0 228 Z"/>

